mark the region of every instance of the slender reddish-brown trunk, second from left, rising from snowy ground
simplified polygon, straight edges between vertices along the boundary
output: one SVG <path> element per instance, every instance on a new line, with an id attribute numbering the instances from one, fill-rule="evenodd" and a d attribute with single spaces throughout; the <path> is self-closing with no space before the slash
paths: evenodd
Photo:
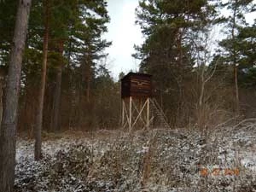
<path id="1" fill-rule="evenodd" d="M 38 96 L 38 112 L 36 116 L 35 125 L 35 160 L 40 160 L 41 154 L 41 132 L 43 124 L 43 111 L 44 111 L 44 92 L 45 92 L 45 81 L 46 81 L 46 70 L 47 70 L 47 55 L 48 55 L 48 40 L 49 40 L 49 4 L 48 0 L 44 1 L 45 10 L 45 24 L 44 24 L 44 48 L 43 48 L 43 62 L 42 62 L 42 76 L 41 84 Z"/>

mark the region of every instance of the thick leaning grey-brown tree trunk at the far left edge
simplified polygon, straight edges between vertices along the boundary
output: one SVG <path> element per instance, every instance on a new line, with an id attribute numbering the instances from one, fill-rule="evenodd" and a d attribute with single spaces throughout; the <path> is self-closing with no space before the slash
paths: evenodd
<path id="1" fill-rule="evenodd" d="M 15 22 L 15 36 L 10 55 L 6 99 L 0 132 L 0 191 L 13 192 L 15 184 L 15 133 L 20 95 L 22 53 L 32 0 L 20 0 Z"/>

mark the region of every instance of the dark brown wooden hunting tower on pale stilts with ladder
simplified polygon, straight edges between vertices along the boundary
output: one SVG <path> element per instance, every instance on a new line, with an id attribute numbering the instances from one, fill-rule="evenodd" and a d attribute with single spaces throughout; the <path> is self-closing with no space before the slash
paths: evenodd
<path id="1" fill-rule="evenodd" d="M 122 126 L 124 128 L 128 126 L 130 131 L 135 125 L 149 128 L 154 119 L 154 111 L 157 111 L 160 114 L 158 116 L 162 116 L 163 119 L 165 117 L 158 103 L 152 98 L 152 75 L 144 73 L 125 75 L 121 79 L 121 97 Z"/>

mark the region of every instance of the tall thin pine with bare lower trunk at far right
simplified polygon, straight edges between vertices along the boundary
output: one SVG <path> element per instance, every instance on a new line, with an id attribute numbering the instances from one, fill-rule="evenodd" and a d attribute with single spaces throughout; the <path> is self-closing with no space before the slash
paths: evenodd
<path id="1" fill-rule="evenodd" d="M 221 3 L 223 8 L 230 11 L 230 15 L 222 21 L 225 24 L 225 33 L 227 38 L 222 40 L 219 45 L 224 49 L 224 54 L 227 64 L 233 66 L 234 69 L 234 84 L 236 97 L 236 113 L 239 114 L 239 88 L 238 88 L 238 68 L 241 66 L 241 38 L 239 38 L 239 31 L 247 26 L 245 14 L 255 11 L 255 4 L 253 0 L 230 0 L 227 3 Z"/>

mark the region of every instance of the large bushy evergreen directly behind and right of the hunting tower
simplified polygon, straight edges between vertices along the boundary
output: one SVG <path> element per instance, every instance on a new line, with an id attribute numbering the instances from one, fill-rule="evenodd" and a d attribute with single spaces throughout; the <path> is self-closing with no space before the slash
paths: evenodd
<path id="1" fill-rule="evenodd" d="M 209 2 L 143 0 L 137 8 L 137 24 L 146 39 L 141 47 L 136 47 L 134 56 L 142 60 L 141 70 L 154 74 L 160 103 L 166 102 L 175 111 L 170 117 L 179 117 L 181 110 L 186 110 L 184 84 L 191 81 L 195 65 L 196 34 L 215 14 Z M 172 123 L 177 124 L 176 119 Z"/>

